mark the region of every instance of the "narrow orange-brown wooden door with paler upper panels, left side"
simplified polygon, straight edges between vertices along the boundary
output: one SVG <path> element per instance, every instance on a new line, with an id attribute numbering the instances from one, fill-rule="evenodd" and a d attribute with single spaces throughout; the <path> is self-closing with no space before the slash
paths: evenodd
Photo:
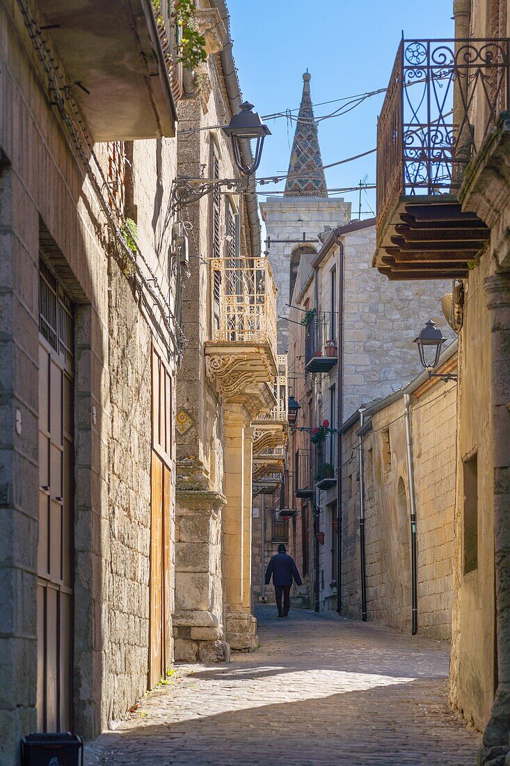
<path id="1" fill-rule="evenodd" d="M 171 661 L 172 427 L 172 378 L 162 356 L 153 349 L 149 687 L 165 676 Z"/>

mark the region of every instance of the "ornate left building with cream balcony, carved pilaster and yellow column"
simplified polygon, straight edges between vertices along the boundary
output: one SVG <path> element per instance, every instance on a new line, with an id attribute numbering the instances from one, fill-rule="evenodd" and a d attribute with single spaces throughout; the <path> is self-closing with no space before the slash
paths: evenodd
<path id="1" fill-rule="evenodd" d="M 178 107 L 181 178 L 237 178 L 230 139 L 218 125 L 242 102 L 227 8 L 198 14 L 208 60 L 185 80 Z M 249 145 L 244 162 L 251 159 Z M 201 173 L 204 169 L 204 173 Z M 276 289 L 260 253 L 254 179 L 181 205 L 191 277 L 184 300 L 188 346 L 177 385 L 177 660 L 218 661 L 253 650 L 252 463 L 277 408 Z M 268 385 L 269 384 L 269 385 Z M 260 419 L 264 419 L 260 424 Z M 283 439 L 281 425 L 275 426 Z M 268 445 L 266 444 L 266 447 Z"/>

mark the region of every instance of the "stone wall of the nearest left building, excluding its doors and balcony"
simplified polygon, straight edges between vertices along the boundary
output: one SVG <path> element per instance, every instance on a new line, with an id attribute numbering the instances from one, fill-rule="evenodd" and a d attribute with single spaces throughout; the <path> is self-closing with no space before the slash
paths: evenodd
<path id="1" fill-rule="evenodd" d="M 38 728 L 39 253 L 74 303 L 71 643 L 74 728 L 86 738 L 122 716 L 147 686 L 149 371 L 152 332 L 159 334 L 154 307 L 145 313 L 129 275 L 119 270 L 90 178 L 48 103 L 44 73 L 21 14 L 10 15 L 13 8 L 0 5 L 6 59 L 0 67 L 2 766 L 15 763 L 21 735 Z M 175 141 L 137 142 L 134 151 L 139 245 L 168 295 L 170 185 L 162 191 L 159 184 L 163 175 L 175 175 Z M 96 145 L 95 152 L 107 175 L 108 147 Z M 173 286 L 168 301 L 173 309 Z"/>

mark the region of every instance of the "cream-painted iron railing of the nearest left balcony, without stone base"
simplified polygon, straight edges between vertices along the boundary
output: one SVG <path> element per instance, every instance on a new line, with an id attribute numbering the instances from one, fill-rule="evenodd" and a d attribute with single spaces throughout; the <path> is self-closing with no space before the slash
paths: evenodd
<path id="1" fill-rule="evenodd" d="M 212 338 L 269 345 L 276 360 L 276 287 L 267 258 L 211 259 Z"/>

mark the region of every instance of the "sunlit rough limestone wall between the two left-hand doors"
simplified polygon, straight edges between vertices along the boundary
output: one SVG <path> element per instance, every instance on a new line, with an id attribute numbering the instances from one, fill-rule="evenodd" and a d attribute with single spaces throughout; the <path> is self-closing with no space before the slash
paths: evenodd
<path id="1" fill-rule="evenodd" d="M 107 719 L 119 719 L 147 685 L 151 538 L 151 352 L 149 327 L 139 317 L 123 273 L 110 264 L 109 536 L 103 604 Z"/>

